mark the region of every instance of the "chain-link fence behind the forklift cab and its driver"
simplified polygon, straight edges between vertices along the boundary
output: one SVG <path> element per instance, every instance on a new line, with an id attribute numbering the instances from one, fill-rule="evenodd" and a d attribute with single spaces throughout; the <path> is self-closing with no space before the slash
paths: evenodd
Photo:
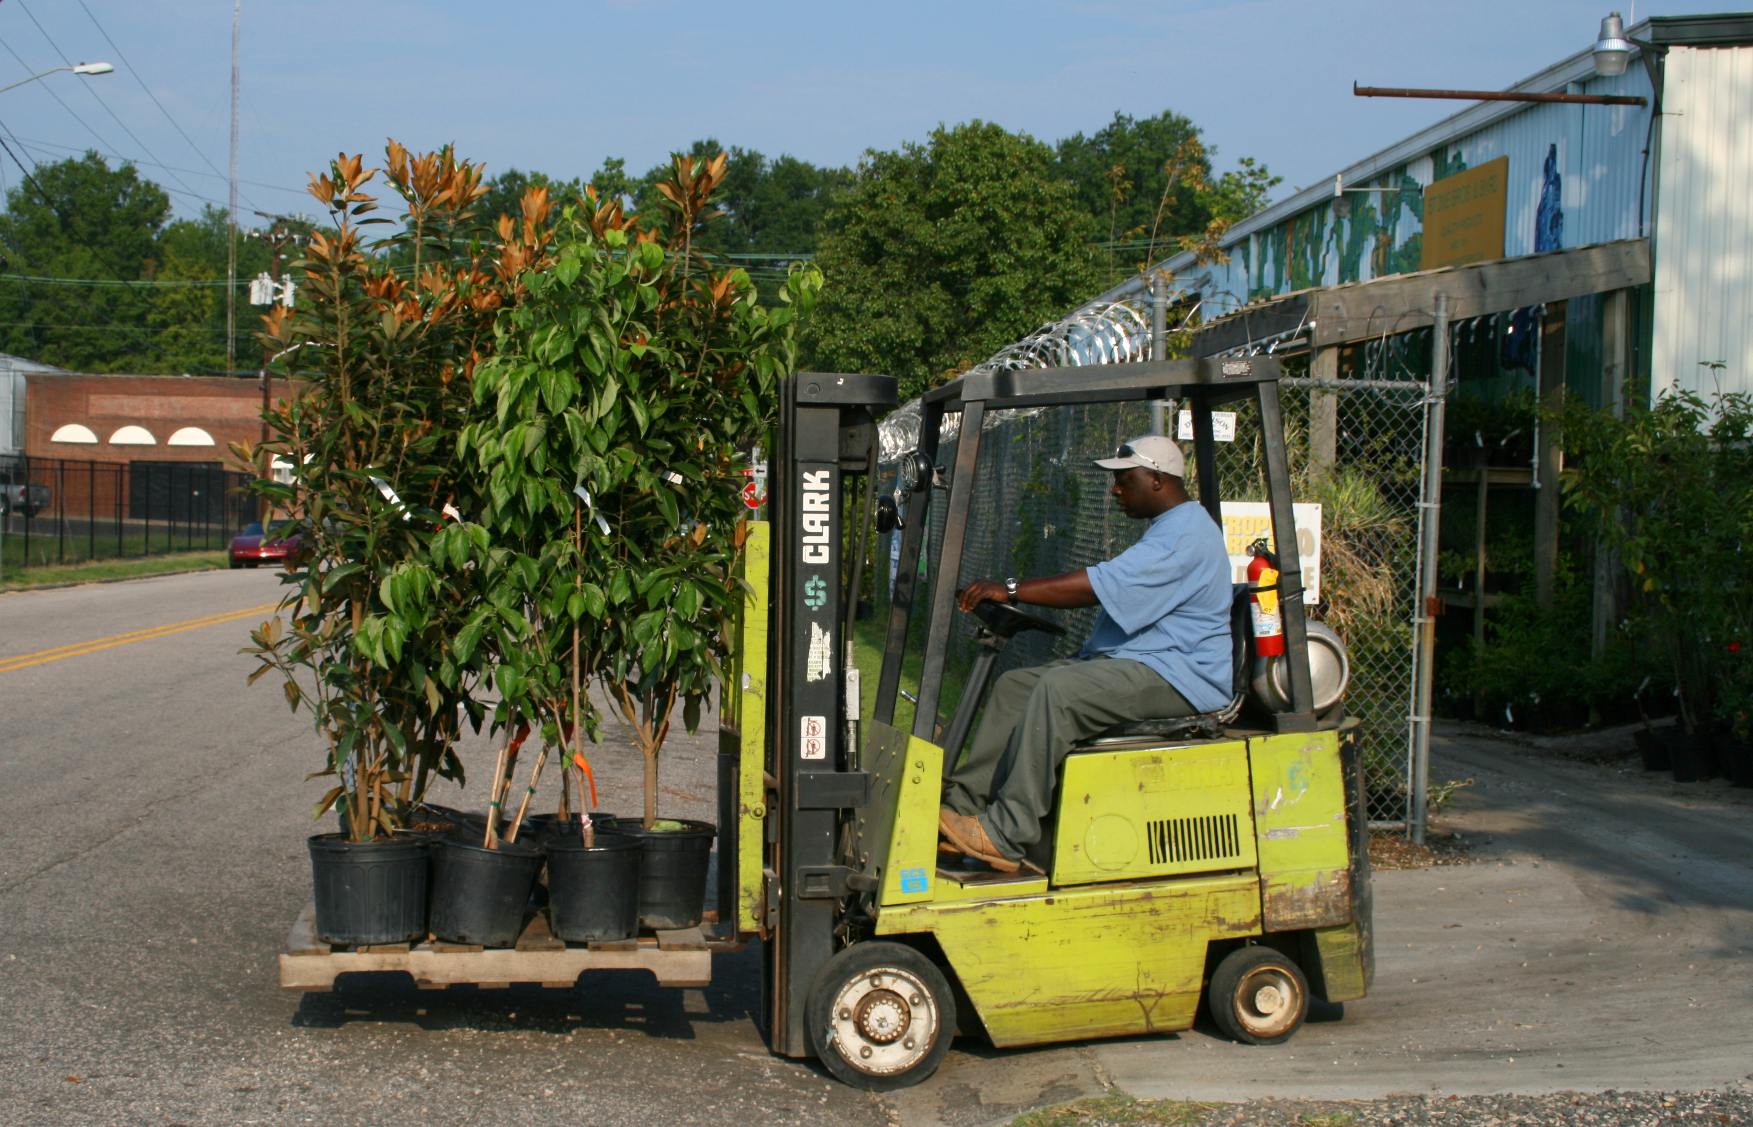
<path id="1" fill-rule="evenodd" d="M 1427 391 L 1422 375 L 1388 359 L 1406 358 L 1399 352 L 1374 358 L 1360 351 L 1357 375 L 1367 379 L 1285 379 L 1281 403 L 1292 496 L 1322 507 L 1320 601 L 1308 608 L 1309 617 L 1338 631 L 1350 652 L 1346 712 L 1362 724 L 1371 819 L 1402 822 L 1411 754 Z M 1259 408 L 1252 401 L 1232 407 L 1234 440 L 1220 442 L 1215 454 L 1220 496 L 1264 501 Z M 1175 417 L 1171 407 L 1171 428 Z M 1108 559 L 1136 542 L 1143 522 L 1120 514 L 1110 496 L 1111 475 L 1092 459 L 1108 457 L 1120 442 L 1148 433 L 1150 421 L 1150 407 L 1143 403 L 996 412 L 982 436 L 968 543 L 955 585 L 1006 575 L 1057 575 Z M 1187 480 L 1192 482 L 1192 443 L 1183 445 Z M 945 440 L 938 461 L 950 466 L 954 459 L 955 442 Z M 892 487 L 892 477 L 885 487 Z M 936 559 L 943 543 L 943 496 L 940 493 L 931 507 L 931 535 L 922 556 L 926 582 L 915 596 L 920 612 L 913 617 L 913 652 L 924 638 L 929 587 L 941 578 Z M 880 547 L 884 591 L 898 538 Z M 1231 550 L 1241 550 L 1234 538 Z M 1054 617 L 1066 626 L 1066 634 L 1017 636 L 999 671 L 1075 656 L 1094 626 L 1096 610 L 1062 610 Z M 957 615 L 943 673 L 943 715 L 954 713 L 975 652 L 973 619 Z"/>

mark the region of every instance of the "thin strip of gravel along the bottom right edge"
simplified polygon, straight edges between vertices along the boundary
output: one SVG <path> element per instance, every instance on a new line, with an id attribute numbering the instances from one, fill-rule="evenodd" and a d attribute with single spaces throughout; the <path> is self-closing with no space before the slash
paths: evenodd
<path id="1" fill-rule="evenodd" d="M 1753 1094 L 1555 1092 L 1551 1095 L 1388 1097 L 1376 1101 L 1250 1101 L 1185 1104 L 1085 1099 L 1031 1111 L 1015 1127 L 1709 1127 L 1753 1123 Z"/>

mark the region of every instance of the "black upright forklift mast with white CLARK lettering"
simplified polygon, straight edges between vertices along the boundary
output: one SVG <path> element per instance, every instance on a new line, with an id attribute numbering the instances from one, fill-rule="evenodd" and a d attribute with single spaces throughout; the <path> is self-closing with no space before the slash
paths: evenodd
<path id="1" fill-rule="evenodd" d="M 803 1006 L 834 953 L 840 899 L 859 876 L 841 864 L 840 810 L 862 806 L 857 668 L 850 663 L 859 561 L 876 473 L 878 412 L 896 407 L 891 375 L 801 372 L 782 384 L 770 466 L 775 529 L 768 606 L 766 1010 L 770 1043 L 810 1053 Z M 852 486 L 864 501 L 848 505 Z M 848 692 L 848 682 L 852 692 Z M 784 812 L 784 815 L 780 815 Z M 756 843 L 743 843 L 743 848 Z"/>

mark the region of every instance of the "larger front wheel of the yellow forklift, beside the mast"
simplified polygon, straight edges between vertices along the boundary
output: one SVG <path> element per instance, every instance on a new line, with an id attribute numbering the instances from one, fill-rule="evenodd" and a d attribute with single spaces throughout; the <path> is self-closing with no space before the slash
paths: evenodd
<path id="1" fill-rule="evenodd" d="M 926 1080 L 955 1039 L 950 980 L 899 943 L 843 948 L 815 975 L 803 1015 L 827 1071 L 864 1092 Z"/>

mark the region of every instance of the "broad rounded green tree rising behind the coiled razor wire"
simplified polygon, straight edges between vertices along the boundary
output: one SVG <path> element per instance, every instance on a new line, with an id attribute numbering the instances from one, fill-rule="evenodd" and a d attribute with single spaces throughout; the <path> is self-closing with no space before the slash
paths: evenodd
<path id="1" fill-rule="evenodd" d="M 915 396 L 1096 293 L 1097 237 L 1026 133 L 971 121 L 869 151 L 826 216 L 813 363 Z"/>

